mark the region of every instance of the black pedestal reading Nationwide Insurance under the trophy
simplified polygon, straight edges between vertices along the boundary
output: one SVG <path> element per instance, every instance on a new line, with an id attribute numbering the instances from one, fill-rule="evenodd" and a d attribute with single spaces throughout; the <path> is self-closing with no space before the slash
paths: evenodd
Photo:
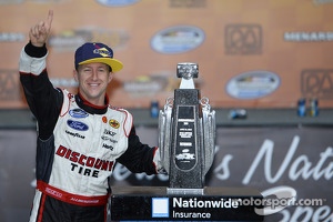
<path id="1" fill-rule="evenodd" d="M 249 188 L 112 188 L 112 221 L 263 221 L 263 199 Z M 193 191 L 193 192 L 192 192 Z"/>

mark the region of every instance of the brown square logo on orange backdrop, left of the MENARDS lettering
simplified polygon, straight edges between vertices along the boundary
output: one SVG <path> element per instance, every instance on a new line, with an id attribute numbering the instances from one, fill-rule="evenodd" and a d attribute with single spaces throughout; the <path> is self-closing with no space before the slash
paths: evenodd
<path id="1" fill-rule="evenodd" d="M 228 24 L 225 27 L 226 54 L 260 54 L 262 28 L 259 24 Z"/>

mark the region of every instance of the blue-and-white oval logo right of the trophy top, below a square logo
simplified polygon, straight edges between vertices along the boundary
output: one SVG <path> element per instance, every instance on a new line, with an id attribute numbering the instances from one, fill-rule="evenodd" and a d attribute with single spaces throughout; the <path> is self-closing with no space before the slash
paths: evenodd
<path id="1" fill-rule="evenodd" d="M 280 85 L 278 74 L 269 71 L 250 71 L 232 78 L 226 92 L 238 99 L 256 99 L 275 91 Z"/>

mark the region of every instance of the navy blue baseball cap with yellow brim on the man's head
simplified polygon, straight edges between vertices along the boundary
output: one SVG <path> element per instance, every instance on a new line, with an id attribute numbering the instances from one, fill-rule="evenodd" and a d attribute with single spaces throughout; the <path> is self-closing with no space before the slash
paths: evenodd
<path id="1" fill-rule="evenodd" d="M 113 51 L 107 44 L 101 42 L 87 42 L 79 47 L 75 51 L 75 68 L 79 64 L 88 64 L 92 62 L 101 62 L 111 67 L 113 72 L 123 68 L 121 61 L 113 59 Z"/>

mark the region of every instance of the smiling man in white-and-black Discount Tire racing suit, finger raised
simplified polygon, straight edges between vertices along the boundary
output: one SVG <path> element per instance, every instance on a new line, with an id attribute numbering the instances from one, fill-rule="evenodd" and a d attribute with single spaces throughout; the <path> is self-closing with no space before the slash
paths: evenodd
<path id="1" fill-rule="evenodd" d="M 75 51 L 77 94 L 53 88 L 46 65 L 52 18 L 49 11 L 31 28 L 20 56 L 20 81 L 39 132 L 30 221 L 105 221 L 114 163 L 154 174 L 162 169 L 159 150 L 140 142 L 127 110 L 109 105 L 107 85 L 122 63 L 108 46 L 88 42 Z"/>

